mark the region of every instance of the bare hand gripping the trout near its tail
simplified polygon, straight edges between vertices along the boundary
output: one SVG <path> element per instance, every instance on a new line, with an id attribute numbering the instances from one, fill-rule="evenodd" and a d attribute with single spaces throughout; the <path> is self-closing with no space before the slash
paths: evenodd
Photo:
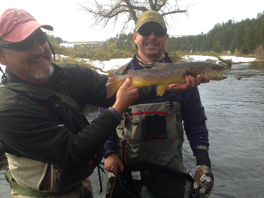
<path id="1" fill-rule="evenodd" d="M 139 88 L 130 89 L 129 91 L 125 91 L 131 84 L 131 79 L 127 78 L 124 84 L 118 89 L 116 94 L 116 102 L 112 106 L 116 109 L 120 115 L 123 115 L 125 110 L 136 101 L 138 98 L 138 90 Z"/>

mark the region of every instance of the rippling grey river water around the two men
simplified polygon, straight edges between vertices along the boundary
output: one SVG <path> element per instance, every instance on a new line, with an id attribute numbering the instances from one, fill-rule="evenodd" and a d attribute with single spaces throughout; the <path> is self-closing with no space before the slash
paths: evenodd
<path id="1" fill-rule="evenodd" d="M 237 80 L 256 76 L 262 69 L 264 62 L 234 64 L 224 72 L 227 79 L 199 86 L 215 178 L 211 198 L 264 197 L 264 76 Z M 87 107 L 88 120 L 97 117 L 97 112 L 97 107 Z M 194 173 L 195 159 L 186 137 L 183 157 L 187 171 Z M 5 155 L 0 153 L 1 198 L 11 198 L 3 175 L 7 166 Z M 102 179 L 103 193 L 99 195 L 97 169 L 91 175 L 94 197 L 104 197 L 107 174 L 103 173 Z"/>

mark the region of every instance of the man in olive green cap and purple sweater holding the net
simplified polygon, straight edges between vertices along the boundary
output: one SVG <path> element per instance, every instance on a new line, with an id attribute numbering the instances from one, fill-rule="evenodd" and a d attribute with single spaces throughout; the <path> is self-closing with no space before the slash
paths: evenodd
<path id="1" fill-rule="evenodd" d="M 133 36 L 138 53 L 114 74 L 127 74 L 129 69 L 150 69 L 152 62 L 172 63 L 164 50 L 168 34 L 166 23 L 160 13 L 147 11 L 139 15 Z M 103 110 L 99 108 L 99 115 Z M 143 112 L 148 119 L 142 120 L 133 112 Z M 152 112 L 155 112 L 155 115 L 158 115 L 158 112 L 166 112 L 166 121 L 157 121 L 157 117 L 162 116 L 151 116 Z M 118 168 L 121 172 L 124 169 L 120 161 L 122 139 L 127 142 L 127 163 L 150 162 L 184 172 L 182 121 L 197 161 L 194 188 L 197 189 L 202 182 L 199 197 L 206 198 L 210 195 L 214 178 L 208 155 L 209 140 L 205 124 L 207 118 L 197 86 L 186 91 L 170 92 L 167 97 L 144 104 L 130 106 L 124 117 L 125 124 L 121 122 L 105 143 L 105 169 L 109 171 L 106 197 L 110 197 Z M 148 128 L 152 130 L 147 130 Z"/>

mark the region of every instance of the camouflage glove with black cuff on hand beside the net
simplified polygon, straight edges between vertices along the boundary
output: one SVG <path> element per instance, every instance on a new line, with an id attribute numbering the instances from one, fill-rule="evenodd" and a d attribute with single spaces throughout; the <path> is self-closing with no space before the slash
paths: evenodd
<path id="1" fill-rule="evenodd" d="M 199 198 L 207 198 L 214 185 L 214 176 L 211 171 L 208 151 L 202 148 L 196 148 L 194 150 L 194 156 L 196 157 L 197 163 L 197 169 L 194 174 L 194 189 L 197 189 L 201 182 Z"/>

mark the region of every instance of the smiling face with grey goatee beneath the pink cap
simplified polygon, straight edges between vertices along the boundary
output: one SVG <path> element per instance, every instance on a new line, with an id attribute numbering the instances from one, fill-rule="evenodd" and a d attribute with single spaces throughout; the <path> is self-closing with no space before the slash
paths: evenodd
<path id="1" fill-rule="evenodd" d="M 29 37 L 41 34 L 41 30 L 37 29 Z M 1 44 L 10 43 L 2 40 Z M 34 83 L 44 83 L 51 76 L 53 68 L 50 65 L 51 51 L 48 42 L 39 45 L 34 41 L 32 49 L 15 50 L 1 49 L 0 62 L 13 72 L 16 76 Z"/>

